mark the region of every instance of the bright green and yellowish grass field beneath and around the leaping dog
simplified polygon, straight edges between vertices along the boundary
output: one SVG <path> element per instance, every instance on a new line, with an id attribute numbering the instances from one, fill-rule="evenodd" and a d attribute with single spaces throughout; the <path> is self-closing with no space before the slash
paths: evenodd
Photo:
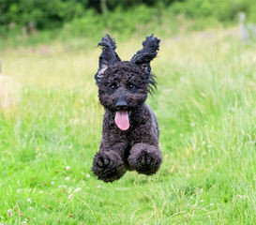
<path id="1" fill-rule="evenodd" d="M 103 115 L 93 79 L 100 51 L 1 52 L 3 73 L 21 88 L 0 113 L 0 224 L 255 224 L 256 45 L 237 33 L 162 37 L 147 102 L 163 164 L 113 184 L 90 171 Z M 129 59 L 142 40 L 117 39 L 117 52 Z"/>

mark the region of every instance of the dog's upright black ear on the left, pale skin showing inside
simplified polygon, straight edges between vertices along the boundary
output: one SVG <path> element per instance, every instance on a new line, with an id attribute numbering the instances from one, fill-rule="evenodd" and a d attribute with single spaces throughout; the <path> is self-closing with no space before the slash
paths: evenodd
<path id="1" fill-rule="evenodd" d="M 100 79 L 108 67 L 112 66 L 118 61 L 121 61 L 117 53 L 114 52 L 116 49 L 114 39 L 109 35 L 102 37 L 101 41 L 98 43 L 98 46 L 101 47 L 102 52 L 98 59 L 98 72 L 95 74 L 96 82 L 100 82 Z"/>

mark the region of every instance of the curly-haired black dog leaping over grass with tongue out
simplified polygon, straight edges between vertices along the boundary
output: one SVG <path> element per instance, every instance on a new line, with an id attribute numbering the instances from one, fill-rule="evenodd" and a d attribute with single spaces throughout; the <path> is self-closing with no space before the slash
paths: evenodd
<path id="1" fill-rule="evenodd" d="M 98 98 L 105 108 L 102 139 L 92 171 L 98 179 L 113 182 L 127 170 L 157 173 L 162 156 L 158 149 L 158 121 L 144 103 L 156 86 L 150 61 L 158 54 L 160 40 L 151 35 L 130 61 L 121 61 L 109 36 L 98 45 Z"/>

